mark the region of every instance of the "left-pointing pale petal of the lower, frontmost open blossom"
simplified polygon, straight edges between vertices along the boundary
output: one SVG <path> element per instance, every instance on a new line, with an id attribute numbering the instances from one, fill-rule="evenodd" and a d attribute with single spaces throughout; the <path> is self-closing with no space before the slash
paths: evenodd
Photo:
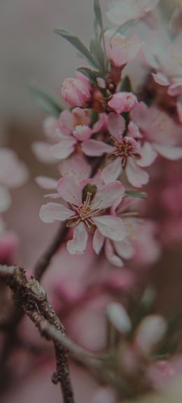
<path id="1" fill-rule="evenodd" d="M 73 216 L 73 212 L 64 205 L 58 203 L 48 203 L 41 206 L 39 217 L 45 223 L 53 223 L 54 221 L 65 221 Z"/>

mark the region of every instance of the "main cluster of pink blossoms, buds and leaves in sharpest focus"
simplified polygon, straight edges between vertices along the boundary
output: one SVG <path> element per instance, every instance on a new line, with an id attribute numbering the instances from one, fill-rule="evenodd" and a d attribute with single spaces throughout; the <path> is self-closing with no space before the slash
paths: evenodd
<path id="1" fill-rule="evenodd" d="M 133 10 L 130 1 L 122 4 L 122 8 L 118 1 L 108 16 L 117 23 L 114 16 L 125 9 L 122 24 L 128 24 L 128 20 L 136 23 L 151 13 L 158 1 L 150 1 L 147 6 L 144 3 L 145 6 L 139 1 Z M 78 68 L 76 78 L 64 80 L 62 97 L 71 109 L 46 118 L 44 129 L 48 141 L 34 144 L 34 152 L 42 161 L 59 161 L 62 175 L 58 181 L 37 178 L 45 189 L 57 190 L 46 196 L 62 199 L 62 203 L 43 205 L 40 217 L 47 223 L 66 221 L 67 227 L 73 227 L 72 239 L 67 242 L 70 254 L 82 254 L 91 234 L 96 254 L 104 247 L 109 261 L 120 266 L 123 258 L 134 256 L 134 237 L 144 228 L 144 223 L 130 208 L 131 196 L 144 197 L 144 193 L 134 189 L 148 183 L 149 173 L 144 168 L 151 166 L 158 155 L 172 161 L 182 157 L 180 82 L 176 79 L 174 84 L 164 76 L 160 55 L 158 67 L 156 63 L 153 66 L 152 47 L 149 54 L 146 44 L 136 35 L 129 39 L 120 34 L 123 26 L 114 32 L 104 31 L 97 1 L 94 13 L 95 33 L 90 50 L 71 32 L 55 29 L 83 54 L 94 70 Z M 155 98 L 141 98 L 137 89 L 132 91 L 125 71 L 139 57 L 146 64 L 153 85 L 162 88 L 165 85 L 167 94 L 176 101 L 174 116 L 160 107 L 157 98 L 155 102 Z M 167 65 L 165 61 L 164 64 Z"/>

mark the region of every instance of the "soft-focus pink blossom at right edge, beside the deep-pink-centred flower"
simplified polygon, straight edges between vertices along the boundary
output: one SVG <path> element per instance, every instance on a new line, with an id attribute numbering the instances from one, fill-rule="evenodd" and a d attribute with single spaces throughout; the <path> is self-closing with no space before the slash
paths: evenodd
<path id="1" fill-rule="evenodd" d="M 176 145 L 180 135 L 180 126 L 155 106 L 147 108 L 144 103 L 139 103 L 130 113 L 132 120 L 132 130 L 129 133 L 133 137 L 141 138 L 141 159 L 139 166 L 150 165 L 158 154 L 172 161 L 181 159 L 182 147 Z M 135 136 L 135 128 L 136 136 Z"/>

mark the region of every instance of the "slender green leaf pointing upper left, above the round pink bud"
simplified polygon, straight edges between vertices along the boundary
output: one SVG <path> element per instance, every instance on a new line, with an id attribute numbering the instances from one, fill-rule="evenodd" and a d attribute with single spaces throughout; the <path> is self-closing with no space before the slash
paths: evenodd
<path id="1" fill-rule="evenodd" d="M 55 32 L 55 34 L 62 36 L 62 38 L 66 39 L 66 41 L 68 41 L 69 43 L 71 43 L 71 45 L 73 45 L 74 47 L 76 47 L 76 49 L 83 54 L 83 56 L 93 65 L 95 66 L 94 63 L 94 59 L 92 59 L 92 56 L 89 52 L 89 50 L 87 49 L 87 47 L 85 45 L 83 45 L 83 43 L 80 41 L 80 39 L 78 38 L 78 36 L 76 36 L 75 34 L 72 34 L 71 31 L 67 31 L 66 29 L 61 29 L 61 28 L 55 28 L 53 29 L 53 32 Z"/>

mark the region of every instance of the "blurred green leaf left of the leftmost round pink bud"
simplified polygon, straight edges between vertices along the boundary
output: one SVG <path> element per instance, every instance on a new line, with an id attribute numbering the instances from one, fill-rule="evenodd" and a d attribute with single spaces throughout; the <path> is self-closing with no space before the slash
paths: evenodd
<path id="1" fill-rule="evenodd" d="M 36 84 L 36 82 L 31 82 L 29 89 L 34 101 L 44 112 L 48 113 L 48 115 L 59 117 L 64 108 L 55 94 Z"/>

